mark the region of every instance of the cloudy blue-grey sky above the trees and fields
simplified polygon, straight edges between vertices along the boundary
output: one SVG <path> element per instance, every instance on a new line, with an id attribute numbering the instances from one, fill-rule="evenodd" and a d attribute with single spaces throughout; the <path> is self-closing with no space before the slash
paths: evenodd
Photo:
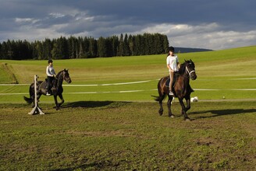
<path id="1" fill-rule="evenodd" d="M 162 33 L 173 47 L 256 45 L 255 0 L 0 0 L 0 42 Z"/>

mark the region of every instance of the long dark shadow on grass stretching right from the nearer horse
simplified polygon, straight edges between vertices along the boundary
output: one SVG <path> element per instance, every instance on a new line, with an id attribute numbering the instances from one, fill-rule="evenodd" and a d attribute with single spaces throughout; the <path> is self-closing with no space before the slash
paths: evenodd
<path id="1" fill-rule="evenodd" d="M 256 113 L 256 109 L 232 109 L 232 110 L 204 110 L 198 112 L 191 112 L 189 114 L 201 114 L 201 113 L 212 113 L 210 116 L 201 116 L 197 118 L 207 118 L 207 117 L 219 117 L 224 115 L 233 115 L 233 114 L 241 114 L 241 113 Z"/>

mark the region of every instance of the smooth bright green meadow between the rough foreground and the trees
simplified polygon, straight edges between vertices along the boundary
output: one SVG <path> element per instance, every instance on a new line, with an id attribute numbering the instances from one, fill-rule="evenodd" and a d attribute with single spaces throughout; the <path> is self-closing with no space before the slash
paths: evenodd
<path id="1" fill-rule="evenodd" d="M 190 81 L 198 99 L 254 99 L 256 95 L 256 47 L 178 54 L 180 63 L 192 59 L 197 80 Z M 55 60 L 56 72 L 69 69 L 72 83 L 64 83 L 66 101 L 152 101 L 158 79 L 168 75 L 166 55 L 119 58 Z M 45 79 L 47 61 L 0 61 L 0 83 L 30 84 L 34 75 Z M 123 84 L 125 83 L 125 84 Z M 0 86 L 0 103 L 23 103 L 28 85 Z M 130 92 L 132 91 L 132 92 Z M 16 93 L 16 94 L 12 94 Z M 6 94 L 11 93 L 11 94 Z M 20 93 L 20 94 L 17 94 Z M 27 95 L 26 95 L 27 93 Z M 41 102 L 52 101 L 42 97 Z"/>

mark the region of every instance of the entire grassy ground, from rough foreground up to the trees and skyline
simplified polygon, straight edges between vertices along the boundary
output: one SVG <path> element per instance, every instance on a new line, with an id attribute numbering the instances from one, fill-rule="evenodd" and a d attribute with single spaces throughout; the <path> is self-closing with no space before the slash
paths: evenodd
<path id="1" fill-rule="evenodd" d="M 196 65 L 191 122 L 177 100 L 158 116 L 165 54 L 55 60 L 66 102 L 42 96 L 34 116 L 23 96 L 47 61 L 0 61 L 0 170 L 255 170 L 256 47 L 178 56 Z"/>

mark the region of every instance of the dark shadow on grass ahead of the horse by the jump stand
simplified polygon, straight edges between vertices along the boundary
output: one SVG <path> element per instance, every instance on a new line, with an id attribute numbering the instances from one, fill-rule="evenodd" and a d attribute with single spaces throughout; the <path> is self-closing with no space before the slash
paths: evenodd
<path id="1" fill-rule="evenodd" d="M 94 107 L 104 107 L 104 106 L 123 106 L 126 103 L 130 102 L 115 102 L 115 101 L 77 101 L 72 103 L 66 103 L 61 106 L 62 108 L 94 108 Z"/>

